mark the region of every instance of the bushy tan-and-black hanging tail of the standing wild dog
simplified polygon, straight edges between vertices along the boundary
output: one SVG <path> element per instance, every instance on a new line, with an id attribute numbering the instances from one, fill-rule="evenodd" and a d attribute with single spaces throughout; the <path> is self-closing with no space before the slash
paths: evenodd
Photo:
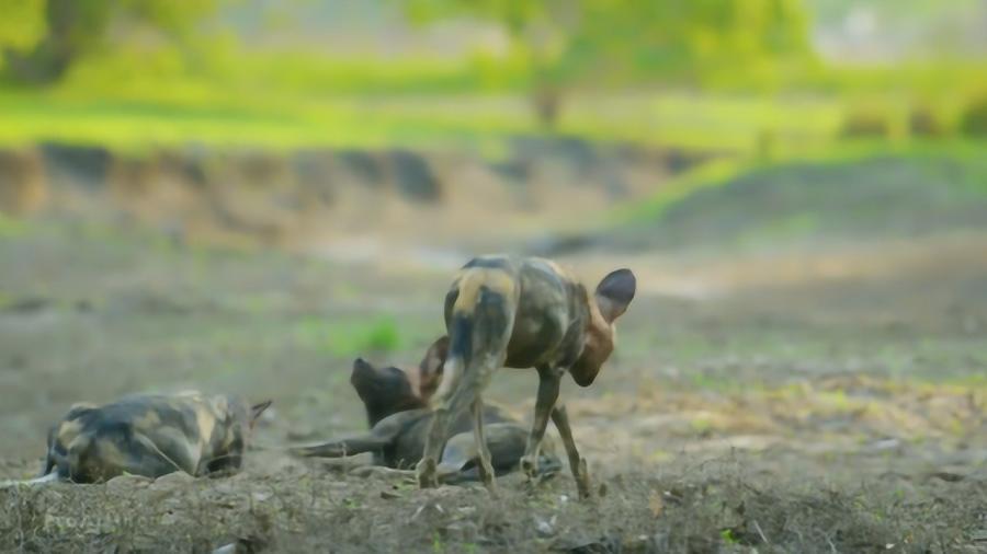
<path id="1" fill-rule="evenodd" d="M 449 356 L 432 404 L 458 412 L 503 363 L 520 290 L 510 266 L 477 266 L 463 270 L 450 295 Z"/>

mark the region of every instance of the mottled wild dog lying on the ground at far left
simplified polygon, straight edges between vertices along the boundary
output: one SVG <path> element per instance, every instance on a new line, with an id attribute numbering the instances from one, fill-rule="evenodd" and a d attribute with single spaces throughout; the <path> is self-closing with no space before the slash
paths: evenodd
<path id="1" fill-rule="evenodd" d="M 76 404 L 48 431 L 42 476 L 27 483 L 236 471 L 257 418 L 270 405 L 197 392 Z"/>

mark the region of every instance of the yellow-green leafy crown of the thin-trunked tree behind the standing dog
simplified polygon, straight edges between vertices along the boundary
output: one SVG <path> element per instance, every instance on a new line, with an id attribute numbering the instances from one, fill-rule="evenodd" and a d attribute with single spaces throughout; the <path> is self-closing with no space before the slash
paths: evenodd
<path id="1" fill-rule="evenodd" d="M 469 16 L 499 25 L 523 60 L 541 119 L 554 124 L 561 90 L 592 83 L 724 81 L 737 67 L 770 78 L 804 60 L 801 0 L 405 0 L 417 21 Z"/>

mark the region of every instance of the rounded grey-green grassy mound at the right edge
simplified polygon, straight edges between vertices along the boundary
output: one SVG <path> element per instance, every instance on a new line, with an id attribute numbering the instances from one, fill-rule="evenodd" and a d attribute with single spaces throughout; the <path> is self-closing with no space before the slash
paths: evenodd
<path id="1" fill-rule="evenodd" d="M 635 249 L 758 249 L 983 229 L 983 147 L 965 140 L 898 146 L 861 140 L 780 162 L 714 159 L 644 201 L 614 208 L 589 232 Z"/>

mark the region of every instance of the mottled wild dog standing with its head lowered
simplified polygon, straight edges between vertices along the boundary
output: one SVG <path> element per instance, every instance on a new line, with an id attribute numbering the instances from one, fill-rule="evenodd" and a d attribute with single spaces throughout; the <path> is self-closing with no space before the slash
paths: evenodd
<path id="1" fill-rule="evenodd" d="M 480 394 L 500 367 L 535 368 L 538 392 L 534 422 L 521 469 L 532 477 L 551 417 L 561 436 L 580 496 L 589 496 L 589 475 L 572 440 L 568 416 L 556 406 L 561 376 L 568 371 L 589 386 L 613 351 L 616 320 L 634 298 L 636 280 L 617 269 L 587 291 L 555 263 L 542 258 L 483 256 L 460 270 L 445 297 L 449 357 L 435 392 L 435 415 L 418 463 L 421 487 L 436 486 L 436 461 L 449 437 L 450 417 L 467 408 L 479 451 L 479 473 L 494 489 L 490 451 Z"/>

